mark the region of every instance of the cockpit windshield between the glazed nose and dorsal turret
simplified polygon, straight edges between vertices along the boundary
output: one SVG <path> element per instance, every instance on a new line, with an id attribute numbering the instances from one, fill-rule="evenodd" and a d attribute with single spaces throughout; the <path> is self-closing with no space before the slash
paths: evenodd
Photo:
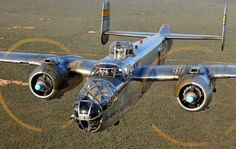
<path id="1" fill-rule="evenodd" d="M 117 77 L 123 76 L 122 69 L 120 69 L 116 65 L 112 64 L 99 64 L 95 65 L 92 71 L 92 75 L 100 75 L 100 76 L 109 76 L 109 77 Z"/>

